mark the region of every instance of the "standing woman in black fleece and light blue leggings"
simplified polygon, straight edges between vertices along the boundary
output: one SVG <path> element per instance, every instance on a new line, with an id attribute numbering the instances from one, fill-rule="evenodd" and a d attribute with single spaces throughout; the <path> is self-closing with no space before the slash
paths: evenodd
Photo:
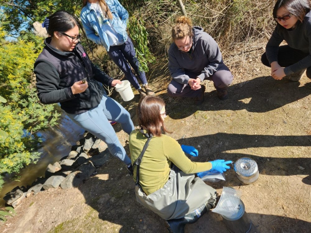
<path id="1" fill-rule="evenodd" d="M 110 153 L 131 169 L 131 160 L 109 121 L 119 122 L 128 134 L 134 130 L 133 122 L 130 114 L 106 96 L 100 86 L 122 82 L 110 78 L 90 61 L 79 43 L 77 21 L 68 12 L 55 12 L 42 26 L 50 37 L 45 39 L 45 47 L 35 61 L 40 102 L 60 103 L 72 121 L 103 140 Z"/>

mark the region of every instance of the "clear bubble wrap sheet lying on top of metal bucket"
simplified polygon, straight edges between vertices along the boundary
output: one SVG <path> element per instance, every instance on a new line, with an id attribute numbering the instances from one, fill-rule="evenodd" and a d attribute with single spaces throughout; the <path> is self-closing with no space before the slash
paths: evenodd
<path id="1" fill-rule="evenodd" d="M 239 211 L 239 203 L 242 191 L 232 187 L 223 187 L 218 204 L 212 212 L 219 213 L 230 218 Z"/>

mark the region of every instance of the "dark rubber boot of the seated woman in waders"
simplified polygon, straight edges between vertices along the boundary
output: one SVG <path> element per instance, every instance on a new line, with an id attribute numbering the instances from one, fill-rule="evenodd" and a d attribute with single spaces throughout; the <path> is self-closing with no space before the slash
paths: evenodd
<path id="1" fill-rule="evenodd" d="M 167 220 L 170 233 L 184 233 L 186 224 L 193 224 L 205 213 L 209 211 L 207 203 L 204 203 L 193 212 L 188 213 L 183 218 Z"/>

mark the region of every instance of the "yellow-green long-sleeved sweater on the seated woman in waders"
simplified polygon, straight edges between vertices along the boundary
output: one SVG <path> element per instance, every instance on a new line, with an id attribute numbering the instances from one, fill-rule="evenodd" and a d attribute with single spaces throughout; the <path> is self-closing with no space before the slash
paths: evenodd
<path id="1" fill-rule="evenodd" d="M 132 164 L 139 157 L 146 141 L 147 138 L 139 130 L 133 130 L 130 134 Z M 207 171 L 212 167 L 210 162 L 192 162 L 173 138 L 167 135 L 153 137 L 139 169 L 139 183 L 146 195 L 163 188 L 169 179 L 172 163 L 187 174 Z M 134 181 L 136 181 L 136 168 L 137 166 L 134 167 Z"/>

